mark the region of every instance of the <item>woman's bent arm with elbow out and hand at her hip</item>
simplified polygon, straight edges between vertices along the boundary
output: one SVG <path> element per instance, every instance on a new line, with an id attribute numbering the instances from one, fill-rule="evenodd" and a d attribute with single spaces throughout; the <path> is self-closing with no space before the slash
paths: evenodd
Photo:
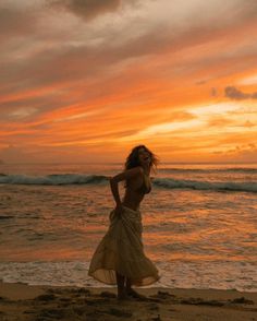
<path id="1" fill-rule="evenodd" d="M 137 175 L 142 175 L 142 174 L 143 174 L 143 168 L 140 166 L 137 166 L 137 167 L 127 169 L 125 171 L 122 171 L 110 179 L 111 192 L 117 203 L 117 206 L 121 205 L 121 198 L 120 198 L 119 186 L 118 186 L 119 182 L 125 179 L 133 178 Z"/>

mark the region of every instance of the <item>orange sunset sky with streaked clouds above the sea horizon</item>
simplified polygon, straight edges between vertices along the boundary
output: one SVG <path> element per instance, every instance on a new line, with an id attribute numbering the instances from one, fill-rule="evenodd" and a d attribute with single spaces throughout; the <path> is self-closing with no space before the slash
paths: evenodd
<path id="1" fill-rule="evenodd" d="M 256 0 L 1 0 L 0 159 L 257 162 Z"/>

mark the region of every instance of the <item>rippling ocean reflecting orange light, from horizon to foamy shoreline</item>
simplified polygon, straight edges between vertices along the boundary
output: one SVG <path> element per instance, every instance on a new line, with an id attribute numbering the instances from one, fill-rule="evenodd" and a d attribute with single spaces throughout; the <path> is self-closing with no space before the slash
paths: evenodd
<path id="1" fill-rule="evenodd" d="M 0 164 L 0 278 L 102 286 L 87 275 L 122 164 Z M 120 187 L 124 192 L 123 183 Z M 152 286 L 257 290 L 257 164 L 161 164 L 142 203 Z"/>

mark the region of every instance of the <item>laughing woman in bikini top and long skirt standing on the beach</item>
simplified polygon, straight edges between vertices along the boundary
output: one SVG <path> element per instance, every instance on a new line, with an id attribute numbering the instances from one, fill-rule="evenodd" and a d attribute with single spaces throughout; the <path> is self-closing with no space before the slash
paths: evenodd
<path id="1" fill-rule="evenodd" d="M 157 157 L 145 146 L 134 147 L 126 158 L 125 170 L 110 179 L 115 209 L 110 226 L 93 255 L 88 274 L 96 280 L 118 285 L 118 299 L 139 295 L 132 285 L 149 285 L 159 280 L 158 271 L 146 258 L 142 242 L 139 204 L 151 190 L 150 171 Z M 121 201 L 119 182 L 125 181 Z"/>

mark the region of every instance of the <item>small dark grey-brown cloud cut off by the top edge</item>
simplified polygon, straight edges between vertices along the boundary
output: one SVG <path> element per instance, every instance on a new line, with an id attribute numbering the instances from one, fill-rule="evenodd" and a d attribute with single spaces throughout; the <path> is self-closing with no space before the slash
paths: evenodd
<path id="1" fill-rule="evenodd" d="M 121 4 L 121 0 L 51 0 L 49 2 L 53 7 L 63 8 L 86 20 L 115 11 Z"/>

